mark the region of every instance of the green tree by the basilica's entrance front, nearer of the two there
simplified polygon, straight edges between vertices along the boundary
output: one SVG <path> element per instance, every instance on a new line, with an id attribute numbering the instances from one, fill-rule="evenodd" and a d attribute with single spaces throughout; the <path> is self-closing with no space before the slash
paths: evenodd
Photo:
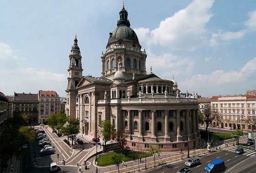
<path id="1" fill-rule="evenodd" d="M 64 126 L 60 132 L 64 132 L 70 137 L 73 145 L 73 139 L 75 135 L 79 133 L 79 119 L 69 118 L 66 126 Z"/>

